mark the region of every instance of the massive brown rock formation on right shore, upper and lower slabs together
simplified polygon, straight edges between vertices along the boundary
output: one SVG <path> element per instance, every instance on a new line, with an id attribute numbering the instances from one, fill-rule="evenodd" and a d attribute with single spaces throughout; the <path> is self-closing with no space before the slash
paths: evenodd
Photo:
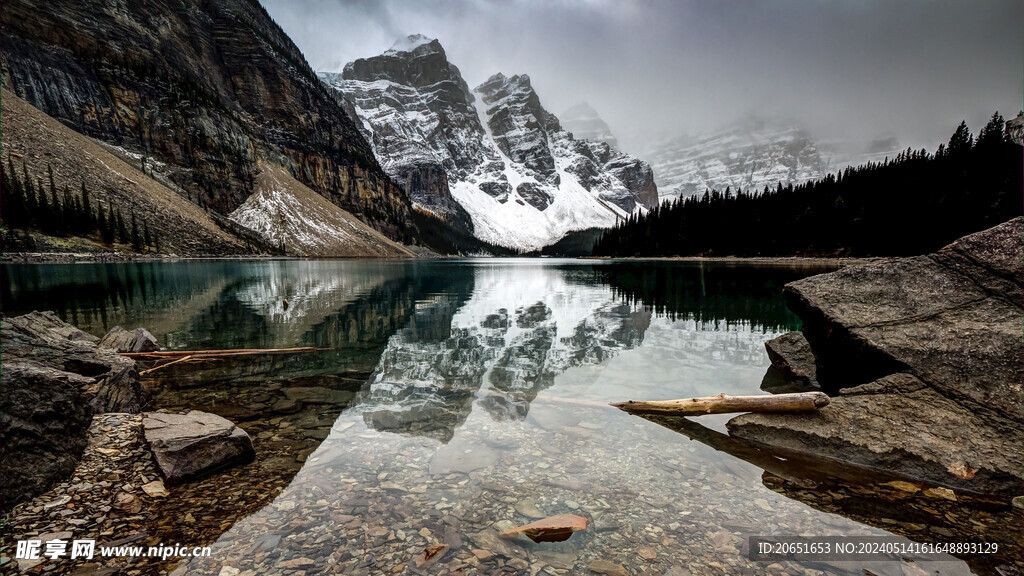
<path id="1" fill-rule="evenodd" d="M 934 254 L 786 285 L 821 386 L 838 396 L 813 415 L 738 416 L 730 434 L 963 490 L 1019 494 L 1022 237 L 1024 218 L 1015 218 Z"/>

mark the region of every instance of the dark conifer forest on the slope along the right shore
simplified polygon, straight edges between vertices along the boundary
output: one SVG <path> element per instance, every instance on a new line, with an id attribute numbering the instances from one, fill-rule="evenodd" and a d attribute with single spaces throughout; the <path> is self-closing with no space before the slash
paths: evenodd
<path id="1" fill-rule="evenodd" d="M 798 186 L 709 190 L 635 214 L 595 243 L 600 256 L 923 254 L 1022 214 L 1022 150 L 992 115 L 924 149 Z"/>

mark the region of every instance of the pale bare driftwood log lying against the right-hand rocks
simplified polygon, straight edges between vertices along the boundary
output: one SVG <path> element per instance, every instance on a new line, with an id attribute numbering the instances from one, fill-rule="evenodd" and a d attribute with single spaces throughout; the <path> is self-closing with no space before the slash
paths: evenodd
<path id="1" fill-rule="evenodd" d="M 820 392 L 775 394 L 766 396 L 709 396 L 684 400 L 620 402 L 615 408 L 630 414 L 663 416 L 700 416 L 732 412 L 813 412 L 828 405 L 828 396 Z"/>

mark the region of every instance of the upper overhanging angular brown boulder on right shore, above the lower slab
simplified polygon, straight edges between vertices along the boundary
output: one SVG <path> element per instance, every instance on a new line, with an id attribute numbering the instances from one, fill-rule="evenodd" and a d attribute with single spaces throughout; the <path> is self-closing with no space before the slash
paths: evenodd
<path id="1" fill-rule="evenodd" d="M 1015 218 L 934 254 L 787 284 L 783 295 L 804 321 L 822 385 L 909 372 L 1024 423 L 1022 237 L 1024 218 Z"/>

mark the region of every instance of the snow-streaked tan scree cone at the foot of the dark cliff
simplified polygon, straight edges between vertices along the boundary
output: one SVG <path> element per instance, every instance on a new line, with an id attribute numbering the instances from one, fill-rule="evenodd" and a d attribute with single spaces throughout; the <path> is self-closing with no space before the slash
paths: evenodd
<path id="1" fill-rule="evenodd" d="M 255 192 L 228 218 L 301 256 L 412 256 L 402 245 L 306 188 L 279 165 L 260 163 Z"/>

